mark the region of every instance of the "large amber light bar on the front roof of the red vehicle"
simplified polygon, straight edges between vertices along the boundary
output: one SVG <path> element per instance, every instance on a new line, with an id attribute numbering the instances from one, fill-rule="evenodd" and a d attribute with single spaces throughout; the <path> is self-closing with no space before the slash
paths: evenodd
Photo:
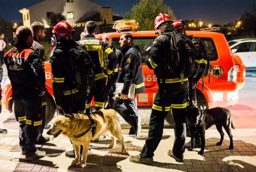
<path id="1" fill-rule="evenodd" d="M 138 24 L 135 20 L 117 20 L 112 29 L 115 29 L 116 32 L 121 32 L 124 30 L 129 30 L 135 32 L 138 28 Z"/>

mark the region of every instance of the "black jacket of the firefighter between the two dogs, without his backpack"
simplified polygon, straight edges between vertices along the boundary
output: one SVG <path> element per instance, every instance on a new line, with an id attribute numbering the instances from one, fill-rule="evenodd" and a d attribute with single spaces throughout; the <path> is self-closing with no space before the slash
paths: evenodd
<path id="1" fill-rule="evenodd" d="M 172 73 L 164 69 L 164 64 L 168 63 L 170 47 L 170 37 L 159 35 L 151 45 L 150 52 L 144 51 L 143 53 L 146 64 L 150 69 L 154 69 L 159 87 L 168 87 L 168 90 L 186 89 L 188 88 L 188 78 L 183 78 L 184 84 L 181 84 L 180 78 L 176 78 Z M 165 86 L 163 83 L 165 83 Z"/>

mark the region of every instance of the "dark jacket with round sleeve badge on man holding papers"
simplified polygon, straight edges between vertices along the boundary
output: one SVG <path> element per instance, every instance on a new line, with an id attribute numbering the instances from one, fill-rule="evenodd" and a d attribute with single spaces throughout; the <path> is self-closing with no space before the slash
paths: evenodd
<path id="1" fill-rule="evenodd" d="M 131 84 L 135 84 L 135 93 L 145 91 L 142 61 L 139 51 L 131 44 L 121 49 L 123 58 L 119 64 L 118 83 L 124 83 L 122 94 L 128 95 Z"/>

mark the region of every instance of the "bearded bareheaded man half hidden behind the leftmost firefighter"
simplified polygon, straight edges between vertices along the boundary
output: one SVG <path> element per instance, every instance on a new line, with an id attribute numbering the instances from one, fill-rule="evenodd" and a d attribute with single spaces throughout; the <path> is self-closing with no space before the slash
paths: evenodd
<path id="1" fill-rule="evenodd" d="M 32 49 L 36 50 L 36 52 L 38 52 L 40 59 L 42 61 L 42 66 L 44 67 L 44 46 L 40 43 L 40 41 L 43 41 L 44 37 L 45 37 L 45 28 L 44 25 L 40 22 L 34 22 L 31 24 L 31 29 L 33 31 L 33 45 L 32 45 Z M 47 90 L 46 90 L 47 91 Z M 42 96 L 42 119 L 43 119 L 43 127 L 42 127 L 42 131 L 41 131 L 41 136 L 38 139 L 38 143 L 45 143 L 47 141 L 50 141 L 50 137 L 48 136 L 43 136 L 42 133 L 44 131 L 44 126 L 45 126 L 45 113 L 46 113 L 46 94 L 45 93 Z"/>

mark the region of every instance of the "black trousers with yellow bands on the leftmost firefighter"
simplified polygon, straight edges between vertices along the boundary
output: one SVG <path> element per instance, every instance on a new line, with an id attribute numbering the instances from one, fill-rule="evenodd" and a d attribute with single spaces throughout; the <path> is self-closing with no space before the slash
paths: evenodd
<path id="1" fill-rule="evenodd" d="M 36 152 L 36 143 L 42 130 L 42 99 L 36 96 L 30 100 L 14 99 L 14 112 L 19 119 L 19 144 L 26 156 Z"/>

